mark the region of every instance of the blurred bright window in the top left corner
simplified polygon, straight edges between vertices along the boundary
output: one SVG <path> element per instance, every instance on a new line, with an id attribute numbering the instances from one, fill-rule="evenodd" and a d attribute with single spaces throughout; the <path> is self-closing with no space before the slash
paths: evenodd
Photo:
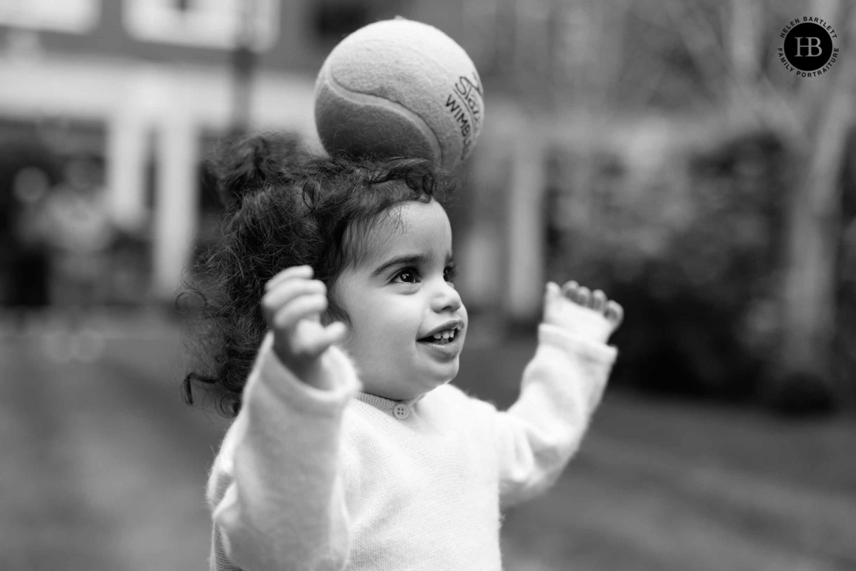
<path id="1" fill-rule="evenodd" d="M 87 33 L 100 16 L 101 0 L 0 0 L 0 24 L 11 27 Z"/>

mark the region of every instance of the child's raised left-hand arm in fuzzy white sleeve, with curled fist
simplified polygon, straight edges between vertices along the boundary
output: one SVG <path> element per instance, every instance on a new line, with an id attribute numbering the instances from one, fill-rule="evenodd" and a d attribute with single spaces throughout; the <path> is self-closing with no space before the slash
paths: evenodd
<path id="1" fill-rule="evenodd" d="M 359 390 L 341 324 L 324 328 L 311 269 L 274 277 L 265 337 L 223 441 L 209 497 L 224 555 L 245 569 L 340 569 L 348 556 L 342 493 L 342 413 Z M 217 547 L 217 546 L 215 546 Z"/>

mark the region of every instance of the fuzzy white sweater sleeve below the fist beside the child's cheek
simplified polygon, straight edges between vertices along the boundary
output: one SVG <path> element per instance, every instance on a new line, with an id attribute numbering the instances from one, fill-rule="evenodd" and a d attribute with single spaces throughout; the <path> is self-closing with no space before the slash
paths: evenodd
<path id="1" fill-rule="evenodd" d="M 244 571 L 345 566 L 342 414 L 360 383 L 338 348 L 322 360 L 332 390 L 294 378 L 273 353 L 269 334 L 211 470 L 214 535 L 228 563 Z M 221 563 L 227 562 L 211 566 Z"/>

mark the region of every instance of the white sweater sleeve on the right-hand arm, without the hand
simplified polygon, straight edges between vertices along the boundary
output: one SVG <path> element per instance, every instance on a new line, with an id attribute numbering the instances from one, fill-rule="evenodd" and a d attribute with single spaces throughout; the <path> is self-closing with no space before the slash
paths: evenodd
<path id="1" fill-rule="evenodd" d="M 538 326 L 538 349 L 520 398 L 496 416 L 500 502 L 508 507 L 552 485 L 580 447 L 617 350 Z"/>

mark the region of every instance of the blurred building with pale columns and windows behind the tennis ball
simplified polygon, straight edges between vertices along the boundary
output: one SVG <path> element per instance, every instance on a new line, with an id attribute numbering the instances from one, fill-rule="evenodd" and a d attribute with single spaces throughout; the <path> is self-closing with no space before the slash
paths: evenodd
<path id="1" fill-rule="evenodd" d="M 457 235 L 468 266 L 461 286 L 486 310 L 529 318 L 544 278 L 550 122 L 543 98 L 519 104 L 519 82 L 508 77 L 574 65 L 553 54 L 580 21 L 557 26 L 554 4 L 0 0 L 0 125 L 29 125 L 51 152 L 103 160 L 110 215 L 148 236 L 151 291 L 169 299 L 199 230 L 199 164 L 210 142 L 235 128 L 284 129 L 316 145 L 312 91 L 330 49 L 372 21 L 425 21 L 467 50 L 487 86 L 464 200 L 479 210 Z"/>

